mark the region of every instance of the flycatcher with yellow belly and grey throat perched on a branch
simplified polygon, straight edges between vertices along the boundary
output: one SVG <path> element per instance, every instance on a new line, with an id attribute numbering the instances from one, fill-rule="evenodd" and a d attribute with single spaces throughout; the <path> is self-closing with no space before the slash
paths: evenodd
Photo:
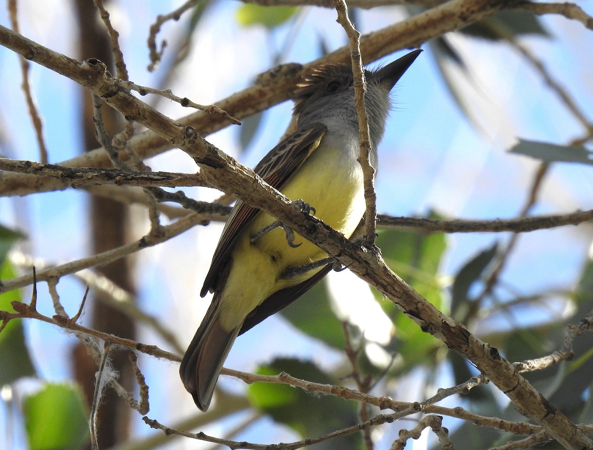
<path id="1" fill-rule="evenodd" d="M 377 144 L 391 107 L 391 88 L 421 51 L 365 72 L 375 168 Z M 273 148 L 254 171 L 289 199 L 310 205 L 315 216 L 350 238 L 365 212 L 352 69 L 320 66 L 297 85 L 294 102 L 297 131 Z M 181 380 L 197 407 L 208 409 L 235 338 L 326 276 L 332 264 L 313 264 L 324 258 L 323 250 L 272 216 L 237 201 L 200 293 L 213 292 L 212 303 L 180 367 Z"/>

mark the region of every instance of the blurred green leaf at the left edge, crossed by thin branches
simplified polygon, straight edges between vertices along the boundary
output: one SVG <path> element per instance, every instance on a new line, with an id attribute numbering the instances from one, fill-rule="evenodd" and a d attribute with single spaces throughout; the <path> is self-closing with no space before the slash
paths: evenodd
<path id="1" fill-rule="evenodd" d="M 9 236 L 7 240 L 20 237 L 14 232 L 5 233 L 5 228 L 0 229 L 0 234 Z M 10 230 L 8 230 L 10 231 Z M 4 239 L 0 238 L 0 241 Z M 5 256 L 5 255 L 3 255 Z M 0 265 L 0 280 L 13 278 L 14 269 L 8 260 Z M 20 292 L 17 289 L 0 294 L 0 310 L 14 311 L 12 301 L 21 301 Z M 11 320 L 0 333 L 0 386 L 9 384 L 23 376 L 34 376 L 35 369 L 25 346 L 23 323 L 21 320 Z"/>

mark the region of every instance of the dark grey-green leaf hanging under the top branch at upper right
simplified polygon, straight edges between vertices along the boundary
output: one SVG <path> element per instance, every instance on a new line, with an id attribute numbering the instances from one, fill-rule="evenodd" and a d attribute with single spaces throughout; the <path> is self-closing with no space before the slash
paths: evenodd
<path id="1" fill-rule="evenodd" d="M 461 28 L 460 32 L 489 40 L 506 39 L 507 36 L 518 37 L 524 34 L 550 36 L 541 25 L 539 18 L 529 11 L 500 11 Z"/>

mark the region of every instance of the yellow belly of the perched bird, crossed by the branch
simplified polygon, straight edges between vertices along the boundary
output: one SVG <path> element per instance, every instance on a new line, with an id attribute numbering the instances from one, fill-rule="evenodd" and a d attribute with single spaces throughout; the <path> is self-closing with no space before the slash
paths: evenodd
<path id="1" fill-rule="evenodd" d="M 302 199 L 315 216 L 350 237 L 365 210 L 362 172 L 358 162 L 347 161 L 339 151 L 317 149 L 282 189 L 291 200 Z M 346 159 L 346 160 L 344 160 Z M 283 279 L 289 267 L 301 267 L 327 254 L 295 234 L 297 248 L 288 245 L 282 228 L 250 241 L 250 236 L 275 219 L 259 213 L 238 238 L 232 253 L 231 270 L 221 301 L 221 325 L 232 330 L 272 293 L 297 285 L 313 276 L 315 269 L 292 279 Z"/>

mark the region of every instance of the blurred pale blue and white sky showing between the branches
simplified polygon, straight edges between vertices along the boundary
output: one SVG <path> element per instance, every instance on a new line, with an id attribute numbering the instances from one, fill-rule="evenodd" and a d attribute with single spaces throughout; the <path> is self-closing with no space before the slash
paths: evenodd
<path id="1" fill-rule="evenodd" d="M 577 3 L 593 14 L 590 2 Z M 148 27 L 155 15 L 168 12 L 178 4 L 180 2 L 141 0 L 108 4 L 114 27 L 121 35 L 130 79 L 136 84 L 160 85 L 162 71 L 149 74 L 145 70 L 149 63 L 145 45 Z M 19 5 L 24 36 L 78 58 L 76 25 L 70 2 L 29 0 Z M 197 103 L 213 103 L 248 87 L 254 76 L 273 65 L 274 55 L 280 50 L 280 62 L 306 63 L 320 56 L 320 39 L 329 50 L 346 44 L 345 34 L 335 22 L 333 9 L 304 8 L 297 20 L 269 33 L 263 27 L 238 25 L 234 14 L 240 5 L 234 1 L 217 2 L 206 12 L 192 38 L 190 55 L 177 69 L 174 84 L 167 86 L 175 94 Z M 5 9 L 0 10 L 0 24 L 9 26 L 6 14 Z M 366 33 L 400 18 L 403 18 L 401 9 L 376 8 L 360 11 L 357 25 Z M 543 60 L 550 74 L 570 92 L 585 115 L 593 117 L 593 63 L 589 51 L 593 48 L 593 33 L 562 17 L 548 15 L 542 17 L 541 22 L 549 30 L 550 39 L 524 37 L 520 42 Z M 180 39 L 183 26 L 183 20 L 165 24 L 160 39 L 175 42 Z M 394 110 L 379 146 L 378 210 L 394 216 L 423 215 L 434 209 L 451 218 L 511 218 L 524 205 L 538 162 L 506 151 L 518 138 L 563 145 L 582 136 L 584 131 L 546 87 L 541 76 L 511 46 L 460 34 L 451 35 L 449 39 L 463 56 L 467 72 L 452 64 L 445 65 L 445 71 L 463 91 L 464 102 L 470 105 L 480 130 L 477 131 L 460 111 L 445 87 L 430 47 L 423 45 L 426 52 L 420 55 L 394 90 Z M 174 56 L 165 55 L 163 66 L 167 65 L 167 58 Z M 401 55 L 403 52 L 390 55 L 377 65 Z M 36 65 L 31 68 L 31 84 L 44 121 L 50 162 L 58 163 L 79 155 L 81 135 L 71 124 L 79 114 L 81 89 L 68 79 Z M 37 161 L 39 151 L 19 86 L 17 56 L 0 48 L 0 153 Z M 192 112 L 168 100 L 159 101 L 158 108 L 174 118 Z M 291 108 L 292 104 L 286 102 L 266 111 L 262 125 L 245 149 L 241 148 L 238 127 L 227 127 L 208 136 L 208 140 L 253 167 L 284 133 Z M 196 170 L 193 161 L 178 150 L 153 158 L 149 165 L 154 170 Z M 593 208 L 592 175 L 591 166 L 554 164 L 533 213 Z M 187 189 L 186 192 L 196 199 L 212 200 L 218 196 L 213 190 Z M 30 237 L 20 245 L 21 251 L 46 261 L 74 260 L 88 254 L 87 198 L 81 190 L 1 198 L 0 223 L 21 229 Z M 141 209 L 134 210 L 132 223 L 130 240 L 148 230 L 146 214 Z M 135 276 L 140 286 L 142 308 L 159 315 L 183 343 L 189 342 L 208 306 L 208 299 L 200 299 L 199 291 L 221 226 L 196 227 L 136 256 Z M 507 235 L 449 235 L 441 268 L 444 283 L 448 275 L 454 275 L 476 253 L 496 240 L 505 239 L 508 239 Z M 503 279 L 509 291 L 522 295 L 569 288 L 579 275 L 579 267 L 588 256 L 590 244 L 591 229 L 585 227 L 522 235 Z M 377 326 L 374 313 L 369 317 L 362 314 L 376 312 L 376 304 L 364 283 L 345 271 L 332 273 L 330 285 L 333 289 L 346 286 L 350 292 L 355 292 L 356 298 L 360 299 L 356 306 L 366 306 L 356 309 L 353 315 L 378 328 L 378 336 L 388 332 L 388 329 L 385 331 Z M 40 291 L 39 309 L 51 315 L 49 294 L 44 286 Z M 84 286 L 66 277 L 60 280 L 58 291 L 66 310 L 74 314 Z M 24 298 L 29 295 L 25 290 Z M 547 308 L 528 311 L 524 320 L 546 321 L 561 314 L 563 306 L 550 302 Z M 508 324 L 495 316 L 484 320 L 481 326 L 481 331 L 489 331 Z M 38 322 L 29 321 L 25 328 L 31 349 L 36 349 L 34 355 L 39 374 L 46 379 L 68 378 L 71 372 L 67 350 L 74 344 L 74 339 Z M 282 334 L 281 340 L 276 339 L 279 333 Z M 139 340 L 166 348 L 148 330 L 143 331 Z M 326 368 L 337 359 L 337 355 L 323 344 L 305 339 L 298 331 L 287 327 L 281 318 L 272 317 L 265 326 L 254 328 L 235 343 L 226 365 L 249 371 L 258 362 L 278 354 L 312 358 Z M 246 358 L 245 355 L 257 355 L 257 358 Z M 183 394 L 178 382 L 176 364 L 150 358 L 141 358 L 141 363 L 151 389 L 161 390 L 160 394 L 151 397 L 153 410 L 160 414 L 156 417 L 158 420 L 173 424 L 195 411 L 191 398 Z M 171 382 L 163 383 L 163 379 Z M 224 377 L 220 384 L 231 391 L 244 389 L 241 382 Z M 400 400 L 419 400 L 413 397 L 416 392 L 410 386 L 414 386 L 413 381 L 400 388 Z M 179 400 L 174 404 L 162 400 L 171 397 Z M 240 422 L 244 416 L 236 419 Z M 4 404 L 0 406 L 0 420 L 0 430 L 5 429 L 7 409 Z M 135 420 L 139 434 L 154 432 L 141 423 L 140 416 Z M 259 422 L 246 430 L 241 439 L 259 441 L 261 426 Z M 205 432 L 219 435 L 222 430 L 214 427 L 205 429 Z M 266 442 L 278 442 L 297 439 L 297 436 L 274 424 L 267 427 L 265 439 Z M 19 439 L 15 441 L 15 449 L 19 442 Z M 184 445 L 189 448 L 193 443 Z M 422 441 L 415 442 L 413 448 L 422 448 L 422 445 Z"/>

